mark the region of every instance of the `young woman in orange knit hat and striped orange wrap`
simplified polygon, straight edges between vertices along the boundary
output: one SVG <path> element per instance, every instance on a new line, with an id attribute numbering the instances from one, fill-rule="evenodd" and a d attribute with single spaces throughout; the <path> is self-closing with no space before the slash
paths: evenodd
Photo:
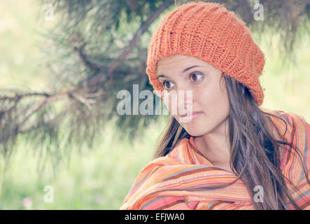
<path id="1" fill-rule="evenodd" d="M 169 13 L 146 72 L 178 110 L 120 209 L 310 209 L 310 125 L 259 108 L 264 65 L 244 22 L 223 6 L 191 2 Z M 169 94 L 181 90 L 184 100 Z"/>

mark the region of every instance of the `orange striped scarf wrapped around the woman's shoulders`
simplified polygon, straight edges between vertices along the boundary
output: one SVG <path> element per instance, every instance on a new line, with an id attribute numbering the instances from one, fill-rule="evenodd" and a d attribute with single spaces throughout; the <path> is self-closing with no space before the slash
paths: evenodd
<path id="1" fill-rule="evenodd" d="M 291 142 L 292 138 L 294 139 L 293 143 L 300 149 L 310 171 L 310 125 L 295 113 L 267 112 L 286 120 L 287 131 L 281 120 L 270 116 L 279 134 L 283 135 L 286 132 L 286 141 Z M 293 123 L 294 137 L 291 136 Z M 301 197 L 286 181 L 297 205 L 310 210 L 310 187 L 297 153 L 290 150 L 289 146 L 286 147 L 280 169 L 304 195 Z M 169 154 L 153 160 L 141 170 L 120 209 L 254 209 L 248 189 L 241 179 L 225 188 L 205 189 L 230 183 L 235 179 L 237 176 L 234 173 L 213 167 L 196 148 L 193 137 L 181 139 Z"/>

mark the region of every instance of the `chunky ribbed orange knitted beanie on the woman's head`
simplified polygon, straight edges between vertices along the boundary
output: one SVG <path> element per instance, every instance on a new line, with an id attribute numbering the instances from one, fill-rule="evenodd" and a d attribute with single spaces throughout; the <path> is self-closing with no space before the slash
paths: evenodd
<path id="1" fill-rule="evenodd" d="M 258 106 L 264 94 L 258 76 L 265 65 L 264 53 L 251 37 L 244 21 L 218 3 L 190 2 L 168 13 L 155 30 L 146 73 L 154 91 L 163 97 L 157 78 L 157 61 L 171 55 L 202 59 L 248 87 Z"/>

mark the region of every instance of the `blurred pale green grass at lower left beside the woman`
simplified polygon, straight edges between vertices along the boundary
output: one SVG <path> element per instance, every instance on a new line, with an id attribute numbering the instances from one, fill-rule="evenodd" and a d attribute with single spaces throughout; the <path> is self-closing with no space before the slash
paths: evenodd
<path id="1" fill-rule="evenodd" d="M 128 141 L 113 143 L 105 134 L 92 151 L 73 152 L 55 179 L 50 164 L 38 178 L 38 152 L 18 139 L 17 153 L 4 176 L 0 209 L 118 209 L 139 171 L 151 161 L 157 130 L 160 125 L 153 125 L 146 133 L 149 138 L 136 139 L 134 147 Z M 53 188 L 52 203 L 43 200 L 45 186 Z"/>

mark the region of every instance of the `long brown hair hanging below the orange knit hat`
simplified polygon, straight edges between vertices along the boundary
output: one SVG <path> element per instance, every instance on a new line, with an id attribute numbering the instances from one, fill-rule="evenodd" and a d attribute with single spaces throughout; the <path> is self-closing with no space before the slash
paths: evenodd
<path id="1" fill-rule="evenodd" d="M 289 146 L 290 153 L 295 150 L 302 161 L 300 150 L 293 144 L 295 124 L 292 124 L 293 132 L 291 133 L 291 142 L 285 141 L 284 136 L 286 132 L 281 136 L 281 140 L 283 141 L 277 140 L 272 134 L 272 129 L 276 125 L 268 117 L 274 115 L 260 110 L 251 92 L 249 92 L 245 85 L 234 80 L 234 78 L 230 78 L 230 76 L 226 76 L 225 73 L 222 73 L 222 78 L 225 79 L 230 102 L 230 113 L 228 116 L 230 130 L 230 167 L 238 176 L 232 183 L 238 179 L 244 181 L 255 209 L 286 210 L 289 209 L 289 203 L 293 204 L 295 209 L 301 209 L 290 195 L 285 180 L 295 190 L 297 188 L 286 176 L 283 176 L 280 169 L 280 151 L 286 149 L 284 146 Z M 280 116 L 274 117 L 281 119 L 286 124 L 286 121 Z M 269 119 L 271 126 L 267 125 L 267 119 Z M 286 131 L 287 128 L 286 125 Z M 276 131 L 278 132 L 277 129 Z M 178 144 L 178 141 L 189 137 L 190 134 L 172 116 L 170 122 L 167 124 L 160 144 L 158 144 L 155 150 L 154 159 L 167 155 Z M 302 164 L 307 182 L 310 185 L 306 163 L 302 161 Z M 212 187 L 212 189 L 225 188 L 232 183 Z M 263 202 L 254 202 L 253 189 L 255 186 L 262 186 L 264 190 Z"/>

